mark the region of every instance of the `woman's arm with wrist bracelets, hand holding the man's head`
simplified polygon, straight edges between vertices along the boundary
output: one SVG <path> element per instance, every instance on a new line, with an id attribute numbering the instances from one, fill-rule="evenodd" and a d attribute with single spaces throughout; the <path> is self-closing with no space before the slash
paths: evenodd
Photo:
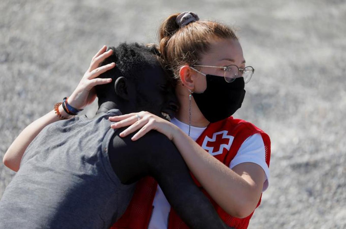
<path id="1" fill-rule="evenodd" d="M 92 103 L 96 98 L 96 94 L 93 91 L 93 87 L 95 85 L 111 82 L 111 79 L 97 78 L 101 73 L 115 66 L 115 63 L 111 63 L 98 67 L 104 59 L 112 54 L 112 50 L 105 52 L 106 49 L 107 47 L 103 46 L 98 53 L 93 56 L 89 69 L 85 72 L 82 80 L 69 97 L 69 104 L 71 106 L 79 109 L 84 108 L 86 105 Z M 59 111 L 60 114 L 65 118 L 72 117 L 64 111 L 62 105 L 59 106 Z M 37 134 L 45 126 L 58 120 L 60 119 L 53 110 L 25 127 L 25 129 L 18 135 L 15 141 L 12 142 L 11 146 L 5 153 L 3 157 L 3 164 L 13 171 L 18 171 L 21 158 L 30 142 L 34 140 Z"/>

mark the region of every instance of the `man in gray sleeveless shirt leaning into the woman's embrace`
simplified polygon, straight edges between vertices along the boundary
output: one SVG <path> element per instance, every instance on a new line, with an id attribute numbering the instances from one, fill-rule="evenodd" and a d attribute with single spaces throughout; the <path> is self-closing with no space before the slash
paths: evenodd
<path id="1" fill-rule="evenodd" d="M 165 135 L 151 131 L 131 141 L 131 136 L 119 137 L 120 129 L 111 129 L 109 116 L 142 110 L 172 116 L 177 109 L 173 85 L 154 47 L 120 44 L 111 49 L 101 65 L 117 66 L 100 78 L 114 80 L 96 88 L 96 116 L 54 122 L 40 131 L 2 196 L 0 228 L 109 228 L 144 176 L 157 180 L 191 228 L 227 228 Z M 68 113 L 74 110 L 65 99 L 63 105 Z"/>

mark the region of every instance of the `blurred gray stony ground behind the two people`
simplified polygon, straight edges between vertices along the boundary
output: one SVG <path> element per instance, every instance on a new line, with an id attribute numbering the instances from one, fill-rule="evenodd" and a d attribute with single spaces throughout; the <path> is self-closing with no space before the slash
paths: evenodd
<path id="1" fill-rule="evenodd" d="M 238 28 L 256 69 L 234 115 L 272 140 L 249 228 L 346 228 L 345 0 L 1 0 L 0 158 L 72 93 L 102 45 L 157 43 L 161 21 L 186 10 Z M 14 175 L 0 163 L 0 197 Z"/>

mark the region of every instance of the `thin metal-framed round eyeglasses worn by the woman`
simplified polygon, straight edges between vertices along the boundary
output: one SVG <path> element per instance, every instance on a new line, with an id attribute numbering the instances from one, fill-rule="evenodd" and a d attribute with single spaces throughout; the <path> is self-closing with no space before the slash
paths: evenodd
<path id="1" fill-rule="evenodd" d="M 224 77 L 227 82 L 233 82 L 238 77 L 243 77 L 244 82 L 248 83 L 251 80 L 252 75 L 255 72 L 255 69 L 252 66 L 247 66 L 245 68 L 238 68 L 237 65 L 231 64 L 227 67 L 219 66 L 207 66 L 207 65 L 190 65 L 193 67 L 209 67 L 209 68 L 220 68 L 224 69 Z"/>

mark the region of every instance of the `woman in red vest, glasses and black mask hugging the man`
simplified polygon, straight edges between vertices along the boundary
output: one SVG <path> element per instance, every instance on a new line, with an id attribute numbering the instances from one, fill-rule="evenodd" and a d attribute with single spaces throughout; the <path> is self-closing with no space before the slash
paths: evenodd
<path id="1" fill-rule="evenodd" d="M 268 185 L 270 140 L 251 123 L 229 116 L 240 107 L 244 83 L 251 78 L 253 68 L 245 67 L 242 48 L 232 29 L 216 22 L 199 21 L 192 12 L 171 15 L 161 25 L 159 34 L 161 54 L 178 82 L 176 95 L 181 107 L 176 118 L 170 123 L 140 112 L 110 118 L 118 121 L 112 127 L 130 125 L 122 136 L 139 130 L 133 140 L 151 129 L 165 134 L 179 149 L 220 217 L 231 227 L 247 228 Z M 95 79 L 99 74 L 95 70 L 98 63 L 109 55 L 104 51 L 101 49 L 95 55 L 69 98 L 72 106 L 83 108 L 94 99 L 92 86 L 107 83 L 106 80 L 96 83 Z M 104 67 L 102 71 L 112 67 Z M 6 154 L 12 156 L 7 162 L 18 161 L 37 133 L 57 120 L 51 112 L 30 124 L 10 146 Z M 18 169 L 18 165 L 14 168 Z M 147 178 L 137 185 L 129 208 L 113 228 L 186 226 L 170 210 L 157 183 Z"/>

